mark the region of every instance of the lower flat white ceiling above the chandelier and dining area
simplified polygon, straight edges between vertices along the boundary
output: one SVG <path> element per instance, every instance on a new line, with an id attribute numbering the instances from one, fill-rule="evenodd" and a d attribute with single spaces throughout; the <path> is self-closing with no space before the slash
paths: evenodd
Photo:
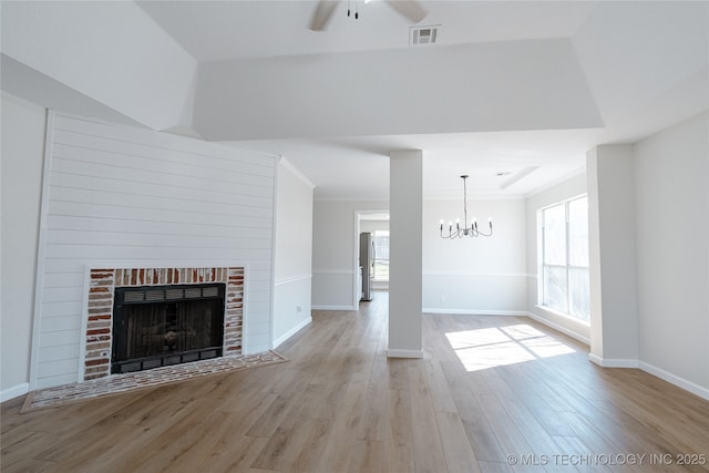
<path id="1" fill-rule="evenodd" d="M 318 198 L 387 199 L 388 153 L 407 148 L 424 150 L 424 189 L 430 198 L 459 198 L 462 174 L 470 175 L 470 195 L 516 198 L 582 172 L 585 152 L 593 146 L 593 132 L 571 130 L 232 144 L 287 156 L 317 185 Z M 499 176 L 499 173 L 505 175 Z M 503 188 L 508 181 L 522 175 L 525 175 L 523 179 Z"/>

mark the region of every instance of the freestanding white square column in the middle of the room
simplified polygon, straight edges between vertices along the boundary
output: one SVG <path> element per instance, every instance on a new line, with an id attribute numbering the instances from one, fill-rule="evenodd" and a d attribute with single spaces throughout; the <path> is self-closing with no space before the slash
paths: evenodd
<path id="1" fill-rule="evenodd" d="M 423 152 L 390 153 L 389 161 L 390 358 L 423 358 Z"/>

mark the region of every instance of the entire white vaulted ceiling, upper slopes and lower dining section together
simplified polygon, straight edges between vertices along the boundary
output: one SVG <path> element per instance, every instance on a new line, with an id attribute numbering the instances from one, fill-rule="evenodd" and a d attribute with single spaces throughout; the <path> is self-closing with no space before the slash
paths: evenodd
<path id="1" fill-rule="evenodd" d="M 384 1 L 9 2 L 2 88 L 44 106 L 286 156 L 318 198 L 520 197 L 709 107 L 709 3 L 423 1 L 410 45 Z M 347 17 L 349 7 L 359 19 Z"/>

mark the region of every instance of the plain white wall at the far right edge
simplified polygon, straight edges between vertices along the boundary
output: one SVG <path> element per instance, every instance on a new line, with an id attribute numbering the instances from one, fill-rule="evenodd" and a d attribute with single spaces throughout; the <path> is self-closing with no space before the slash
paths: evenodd
<path id="1" fill-rule="evenodd" d="M 709 113 L 635 145 L 640 368 L 709 399 Z"/>

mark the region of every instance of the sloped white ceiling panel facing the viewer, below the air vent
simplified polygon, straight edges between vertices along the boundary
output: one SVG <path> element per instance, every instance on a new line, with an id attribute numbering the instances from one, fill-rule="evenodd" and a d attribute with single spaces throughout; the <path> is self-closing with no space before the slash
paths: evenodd
<path id="1" fill-rule="evenodd" d="M 198 75 L 195 127 L 208 140 L 603 124 L 566 39 L 210 61 Z"/>

